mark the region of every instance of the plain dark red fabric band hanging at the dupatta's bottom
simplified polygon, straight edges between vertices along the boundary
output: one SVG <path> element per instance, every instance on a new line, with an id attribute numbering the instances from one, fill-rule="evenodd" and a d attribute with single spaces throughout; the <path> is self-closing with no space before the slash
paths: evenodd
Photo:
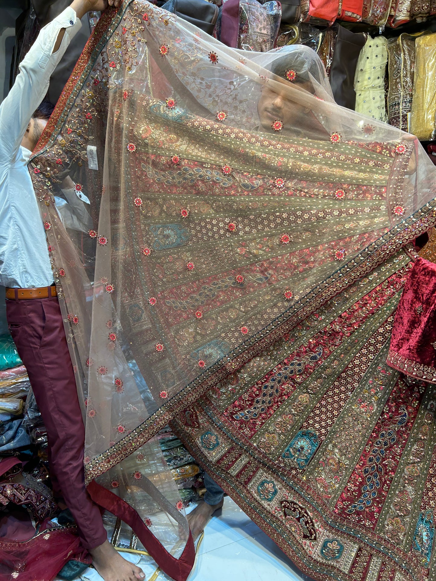
<path id="1" fill-rule="evenodd" d="M 195 560 L 194 540 L 192 539 L 191 531 L 183 553 L 180 558 L 176 559 L 168 553 L 166 548 L 145 526 L 141 517 L 130 504 L 127 504 L 126 501 L 110 492 L 110 490 L 97 484 L 95 480 L 92 480 L 88 485 L 87 491 L 95 503 L 112 512 L 117 518 L 120 518 L 130 526 L 164 573 L 173 578 L 174 581 L 186 581 Z"/>

